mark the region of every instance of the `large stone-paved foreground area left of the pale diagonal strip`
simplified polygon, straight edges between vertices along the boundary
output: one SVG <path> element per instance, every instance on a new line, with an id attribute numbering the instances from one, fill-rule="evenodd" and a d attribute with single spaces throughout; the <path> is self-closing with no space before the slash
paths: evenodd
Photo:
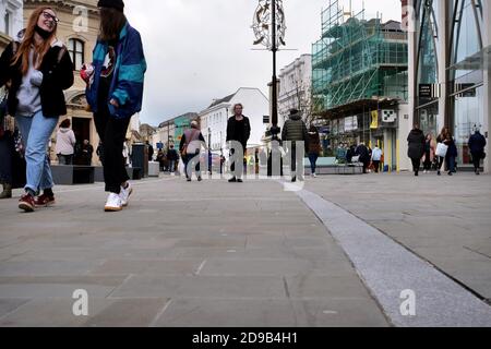
<path id="1" fill-rule="evenodd" d="M 0 202 L 0 326 L 391 325 L 277 182 L 134 184 L 117 214 L 100 184 L 59 186 L 57 205 L 31 215 Z M 72 313 L 75 289 L 88 316 Z"/>

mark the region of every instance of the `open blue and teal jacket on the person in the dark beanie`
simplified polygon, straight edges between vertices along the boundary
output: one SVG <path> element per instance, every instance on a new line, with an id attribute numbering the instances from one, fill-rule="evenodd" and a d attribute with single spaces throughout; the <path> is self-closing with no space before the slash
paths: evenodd
<path id="1" fill-rule="evenodd" d="M 87 103 L 93 112 L 98 109 L 98 88 L 104 60 L 108 52 L 108 44 L 98 40 L 94 48 L 94 81 L 87 86 Z M 131 118 L 142 110 L 143 82 L 146 72 L 145 55 L 140 33 L 129 23 L 124 25 L 116 46 L 116 65 L 112 82 L 109 88 L 108 108 L 116 119 Z M 119 108 L 109 100 L 116 99 Z"/>

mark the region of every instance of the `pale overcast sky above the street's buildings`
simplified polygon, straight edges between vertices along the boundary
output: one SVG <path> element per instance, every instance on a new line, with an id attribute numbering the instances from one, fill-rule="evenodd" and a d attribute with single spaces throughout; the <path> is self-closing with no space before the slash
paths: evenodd
<path id="1" fill-rule="evenodd" d="M 142 34 L 148 63 L 142 123 L 158 125 L 188 111 L 200 112 L 214 98 L 239 87 L 267 93 L 271 52 L 252 50 L 260 48 L 252 45 L 251 28 L 258 0 L 124 2 L 130 23 Z M 358 12 L 362 0 L 352 3 Z M 399 0 L 364 3 L 370 16 L 379 11 L 384 21 L 400 21 Z M 321 10 L 327 4 L 328 0 L 284 0 L 286 48 L 295 50 L 278 53 L 278 72 L 295 58 L 311 52 L 311 45 L 321 36 Z"/>

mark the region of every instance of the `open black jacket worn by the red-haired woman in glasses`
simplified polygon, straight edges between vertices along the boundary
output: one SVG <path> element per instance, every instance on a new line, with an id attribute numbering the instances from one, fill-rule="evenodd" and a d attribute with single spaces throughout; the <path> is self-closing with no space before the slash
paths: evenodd
<path id="1" fill-rule="evenodd" d="M 20 47 L 20 43 L 15 45 Z M 23 76 L 21 60 L 15 65 L 11 65 L 13 47 L 14 43 L 9 44 L 0 58 L 0 87 L 9 81 L 12 82 L 8 108 L 9 113 L 15 116 L 19 106 L 17 92 Z M 62 49 L 64 53 L 59 58 Z M 43 115 L 46 118 L 67 115 L 63 91 L 73 85 L 73 63 L 70 53 L 61 45 L 52 46 L 43 59 L 39 71 L 43 73 L 43 83 L 39 87 Z"/>

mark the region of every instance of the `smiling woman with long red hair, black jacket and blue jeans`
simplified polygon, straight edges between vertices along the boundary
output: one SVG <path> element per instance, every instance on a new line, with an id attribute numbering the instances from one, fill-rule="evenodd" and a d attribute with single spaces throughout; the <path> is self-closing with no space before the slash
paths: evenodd
<path id="1" fill-rule="evenodd" d="M 60 116 L 67 115 L 63 89 L 73 85 L 73 63 L 67 48 L 57 40 L 59 20 L 52 9 L 36 9 L 0 58 L 0 87 L 11 83 L 9 113 L 15 116 L 27 163 L 27 184 L 19 207 L 55 203 L 51 168 L 46 147 Z M 43 191 L 43 195 L 36 197 Z"/>

